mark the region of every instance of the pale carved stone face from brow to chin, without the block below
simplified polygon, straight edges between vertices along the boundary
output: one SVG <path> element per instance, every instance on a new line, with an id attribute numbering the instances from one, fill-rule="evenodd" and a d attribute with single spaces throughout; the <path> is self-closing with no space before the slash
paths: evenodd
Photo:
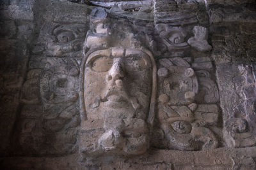
<path id="1" fill-rule="evenodd" d="M 84 77 L 88 119 L 147 118 L 152 67 L 146 53 L 122 47 L 93 52 Z"/>

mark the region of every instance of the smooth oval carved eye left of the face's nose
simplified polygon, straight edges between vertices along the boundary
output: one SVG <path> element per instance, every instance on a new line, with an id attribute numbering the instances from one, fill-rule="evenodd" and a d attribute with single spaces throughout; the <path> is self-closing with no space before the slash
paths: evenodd
<path id="1" fill-rule="evenodd" d="M 109 69 L 113 65 L 113 59 L 111 57 L 98 57 L 97 59 L 93 60 L 92 62 L 92 69 L 93 71 L 97 72 L 106 72 L 109 71 Z"/>

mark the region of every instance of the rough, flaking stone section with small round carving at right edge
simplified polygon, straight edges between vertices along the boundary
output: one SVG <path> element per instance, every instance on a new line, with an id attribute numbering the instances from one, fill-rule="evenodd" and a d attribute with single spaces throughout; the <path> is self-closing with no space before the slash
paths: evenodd
<path id="1" fill-rule="evenodd" d="M 218 66 L 217 73 L 227 145 L 252 146 L 255 144 L 255 129 L 250 125 L 255 121 L 255 110 L 252 109 L 255 102 L 255 92 L 252 88 L 255 81 L 254 69 L 252 66 L 226 64 Z"/>

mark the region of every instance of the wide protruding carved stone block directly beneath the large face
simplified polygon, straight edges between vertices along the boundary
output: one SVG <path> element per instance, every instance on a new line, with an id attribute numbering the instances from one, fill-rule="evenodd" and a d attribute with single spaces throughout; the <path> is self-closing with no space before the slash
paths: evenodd
<path id="1" fill-rule="evenodd" d="M 84 124 L 79 146 L 85 157 L 140 155 L 148 149 L 148 125 L 140 118 L 106 118 Z"/>

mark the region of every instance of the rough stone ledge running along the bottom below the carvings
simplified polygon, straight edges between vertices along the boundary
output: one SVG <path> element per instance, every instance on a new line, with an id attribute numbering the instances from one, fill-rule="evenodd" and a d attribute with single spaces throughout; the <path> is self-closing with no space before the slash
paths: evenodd
<path id="1" fill-rule="evenodd" d="M 237 157 L 237 155 L 240 155 Z M 131 157 L 127 160 L 110 159 L 102 164 L 82 167 L 77 164 L 78 155 L 68 155 L 65 157 L 2 157 L 1 166 L 7 169 L 15 168 L 45 168 L 45 169 L 91 169 L 93 168 L 116 168 L 116 169 L 138 169 L 147 167 L 156 169 L 175 167 L 175 169 L 233 169 L 247 168 L 253 169 L 255 163 L 255 147 L 239 148 L 230 150 L 219 148 L 201 152 L 180 152 L 173 150 L 152 150 L 147 155 Z M 4 160 L 4 162 L 3 162 Z M 47 164 L 45 164 L 47 162 Z M 193 162 L 191 164 L 191 162 Z M 190 167 L 188 166 L 191 165 Z"/>

